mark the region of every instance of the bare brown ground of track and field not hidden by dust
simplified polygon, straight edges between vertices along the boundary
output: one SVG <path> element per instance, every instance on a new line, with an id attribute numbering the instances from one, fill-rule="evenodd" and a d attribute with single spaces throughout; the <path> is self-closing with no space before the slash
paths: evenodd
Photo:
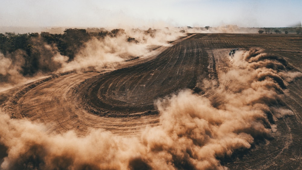
<path id="1" fill-rule="evenodd" d="M 229 50 L 249 47 L 282 56 L 293 70 L 302 72 L 302 38 L 297 35 L 197 34 L 114 71 L 71 72 L 42 82 L 20 95 L 10 111 L 47 123 L 50 133 L 73 129 L 82 136 L 89 128 L 105 128 L 139 135 L 139 129 L 158 123 L 154 100 L 183 88 L 200 92 L 194 87 L 203 78 L 227 86 L 229 82 L 219 77 L 231 67 Z M 213 67 L 208 69 L 209 65 Z M 256 141 L 252 149 L 222 163 L 231 169 L 301 168 L 301 101 L 300 79 L 288 86 L 284 97 L 295 115 L 276 122 L 275 139 Z"/>

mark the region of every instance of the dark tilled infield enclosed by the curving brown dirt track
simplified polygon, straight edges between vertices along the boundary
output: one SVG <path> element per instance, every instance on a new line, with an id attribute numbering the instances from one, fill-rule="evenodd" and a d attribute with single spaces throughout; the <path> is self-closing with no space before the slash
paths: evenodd
<path id="1" fill-rule="evenodd" d="M 79 101 L 84 99 L 80 103 L 102 116 L 156 114 L 155 100 L 193 89 L 200 76 L 207 75 L 207 65 L 201 42 L 187 39 L 154 60 L 86 80 L 77 89 Z"/>

